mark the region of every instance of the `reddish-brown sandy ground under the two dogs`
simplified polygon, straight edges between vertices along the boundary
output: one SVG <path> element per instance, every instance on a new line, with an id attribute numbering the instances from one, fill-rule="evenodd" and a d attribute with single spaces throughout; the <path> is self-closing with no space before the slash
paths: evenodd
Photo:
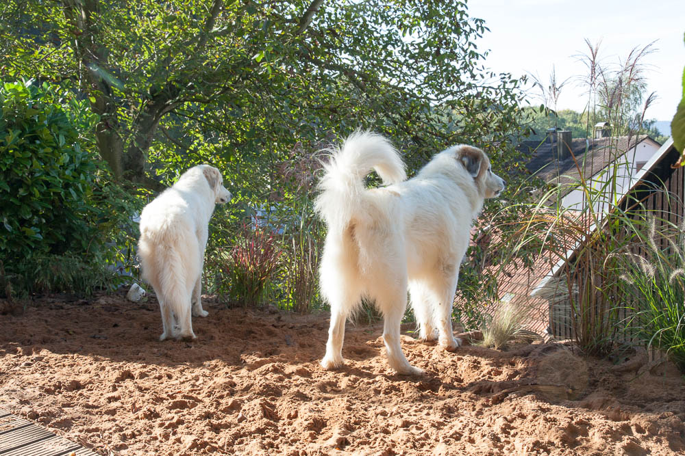
<path id="1" fill-rule="evenodd" d="M 427 375 L 401 377 L 379 325 L 348 325 L 347 366 L 327 372 L 327 315 L 206 308 L 193 343 L 158 342 L 153 298 L 2 314 L 0 407 L 103 455 L 685 454 L 682 377 L 643 353 L 448 353 L 405 331 Z"/>

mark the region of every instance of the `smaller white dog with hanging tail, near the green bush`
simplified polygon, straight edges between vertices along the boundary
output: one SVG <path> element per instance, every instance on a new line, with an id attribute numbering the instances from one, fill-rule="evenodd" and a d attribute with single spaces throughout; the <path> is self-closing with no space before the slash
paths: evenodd
<path id="1" fill-rule="evenodd" d="M 191 308 L 192 315 L 207 317 L 200 296 L 208 224 L 214 204 L 230 199 L 219 170 L 198 165 L 140 214 L 138 254 L 142 278 L 155 289 L 160 303 L 164 328 L 160 340 L 195 339 Z"/>

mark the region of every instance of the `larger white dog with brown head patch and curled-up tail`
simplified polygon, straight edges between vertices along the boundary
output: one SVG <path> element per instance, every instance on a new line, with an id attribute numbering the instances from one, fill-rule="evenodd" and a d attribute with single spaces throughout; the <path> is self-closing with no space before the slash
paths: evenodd
<path id="1" fill-rule="evenodd" d="M 366 189 L 374 169 L 387 187 Z M 452 302 L 473 219 L 485 198 L 498 196 L 504 181 L 485 153 L 454 146 L 437 154 L 416 177 L 382 136 L 353 133 L 325 165 L 316 198 L 328 226 L 321 258 L 321 293 L 331 306 L 324 368 L 343 364 L 345 321 L 362 297 L 384 316 L 388 362 L 397 373 L 421 374 L 399 344 L 399 325 L 411 297 L 419 335 L 445 349 L 452 334 Z"/>

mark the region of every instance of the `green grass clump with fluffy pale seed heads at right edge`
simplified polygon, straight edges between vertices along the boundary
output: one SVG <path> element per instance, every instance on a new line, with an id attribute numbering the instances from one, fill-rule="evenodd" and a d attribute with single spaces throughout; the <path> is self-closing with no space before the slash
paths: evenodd
<path id="1" fill-rule="evenodd" d="M 685 373 L 685 222 L 626 219 L 634 244 L 616 255 L 627 291 L 627 331 Z"/>

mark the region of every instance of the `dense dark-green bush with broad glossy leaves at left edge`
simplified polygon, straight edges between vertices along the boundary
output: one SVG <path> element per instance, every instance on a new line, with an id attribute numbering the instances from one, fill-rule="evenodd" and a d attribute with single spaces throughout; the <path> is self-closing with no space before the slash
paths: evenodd
<path id="1" fill-rule="evenodd" d="M 0 255 L 12 263 L 88 250 L 96 165 L 81 133 L 97 117 L 47 83 L 4 83 L 0 102 Z"/>

